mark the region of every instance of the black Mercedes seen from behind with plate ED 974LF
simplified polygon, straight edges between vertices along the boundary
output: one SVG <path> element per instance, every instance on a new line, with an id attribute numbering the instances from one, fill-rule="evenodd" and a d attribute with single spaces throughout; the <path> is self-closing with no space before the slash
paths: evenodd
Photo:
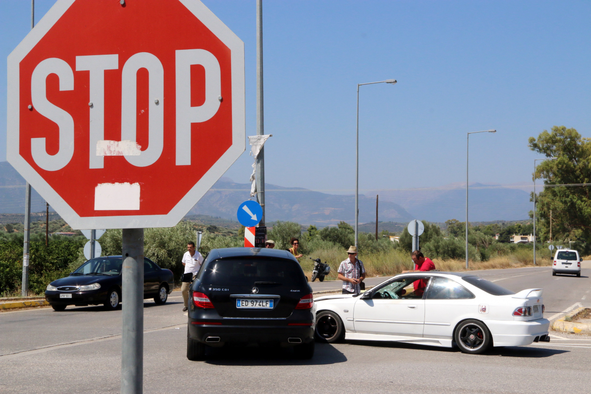
<path id="1" fill-rule="evenodd" d="M 252 343 L 314 355 L 312 289 L 286 250 L 213 249 L 190 292 L 187 359 L 203 359 L 208 346 Z"/>

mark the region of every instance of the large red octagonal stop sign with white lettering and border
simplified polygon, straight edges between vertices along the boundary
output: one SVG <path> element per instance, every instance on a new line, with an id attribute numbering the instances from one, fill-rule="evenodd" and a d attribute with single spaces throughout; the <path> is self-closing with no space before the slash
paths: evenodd
<path id="1" fill-rule="evenodd" d="M 244 45 L 198 0 L 60 0 L 8 57 L 8 161 L 74 229 L 174 226 L 244 119 Z"/>

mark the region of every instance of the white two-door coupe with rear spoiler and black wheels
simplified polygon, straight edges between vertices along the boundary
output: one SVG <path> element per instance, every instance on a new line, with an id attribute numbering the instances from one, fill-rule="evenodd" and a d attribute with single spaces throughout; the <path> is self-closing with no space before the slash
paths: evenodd
<path id="1" fill-rule="evenodd" d="M 472 273 L 404 273 L 361 295 L 316 298 L 316 338 L 455 343 L 470 354 L 491 346 L 549 342 L 542 292 L 515 294 Z"/>

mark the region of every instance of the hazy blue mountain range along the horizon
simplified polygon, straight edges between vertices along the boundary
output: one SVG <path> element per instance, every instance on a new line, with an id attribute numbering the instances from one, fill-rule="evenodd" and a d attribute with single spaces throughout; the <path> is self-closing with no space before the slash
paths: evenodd
<path id="1" fill-rule="evenodd" d="M 8 162 L 0 162 L 0 213 L 23 213 L 25 180 Z M 465 220 L 466 184 L 456 183 L 426 190 L 381 190 L 359 196 L 359 222 L 374 222 L 375 195 L 379 194 L 379 222 L 408 223 L 412 219 L 445 222 Z M 517 188 L 516 188 L 517 187 Z M 238 205 L 250 198 L 251 185 L 222 177 L 190 214 L 236 220 Z M 530 185 L 470 184 L 470 222 L 524 220 L 532 209 Z M 266 185 L 267 222 L 290 220 L 329 226 L 355 220 L 355 196 L 326 194 L 298 187 Z M 33 190 L 31 211 L 45 211 L 43 197 Z"/>

